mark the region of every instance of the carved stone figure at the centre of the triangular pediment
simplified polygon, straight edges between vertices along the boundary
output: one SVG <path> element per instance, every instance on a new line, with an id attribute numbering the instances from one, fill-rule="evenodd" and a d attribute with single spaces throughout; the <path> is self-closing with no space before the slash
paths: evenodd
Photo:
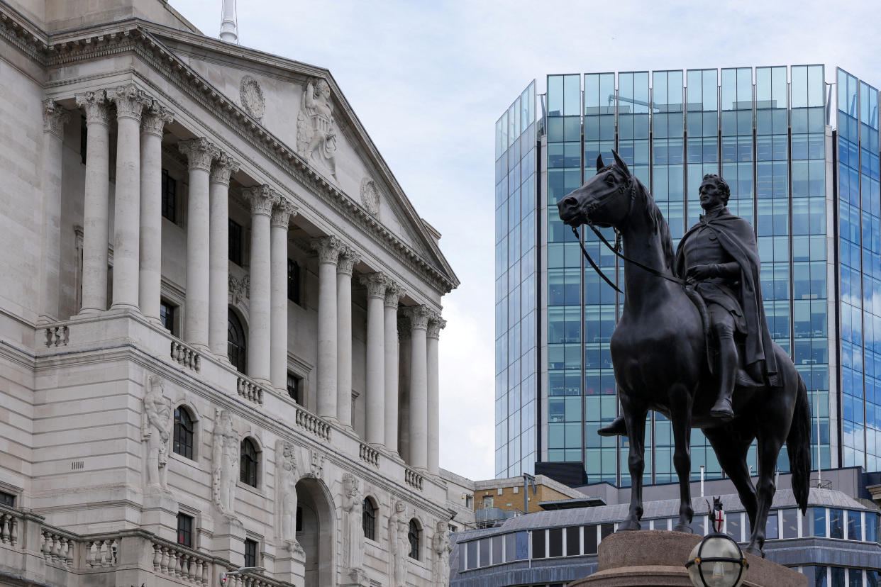
<path id="1" fill-rule="evenodd" d="M 307 161 L 321 163 L 336 180 L 337 131 L 333 125 L 330 86 L 323 79 L 309 80 L 297 114 L 297 152 Z"/>

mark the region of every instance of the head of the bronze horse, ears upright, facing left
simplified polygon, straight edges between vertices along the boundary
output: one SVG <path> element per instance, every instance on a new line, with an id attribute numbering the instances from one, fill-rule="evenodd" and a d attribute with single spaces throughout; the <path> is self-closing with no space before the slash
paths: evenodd
<path id="1" fill-rule="evenodd" d="M 565 224 L 618 228 L 630 215 L 636 178 L 618 152 L 611 153 L 615 163 L 603 165 L 603 156 L 597 157 L 596 175 L 557 202 L 559 219 Z"/>

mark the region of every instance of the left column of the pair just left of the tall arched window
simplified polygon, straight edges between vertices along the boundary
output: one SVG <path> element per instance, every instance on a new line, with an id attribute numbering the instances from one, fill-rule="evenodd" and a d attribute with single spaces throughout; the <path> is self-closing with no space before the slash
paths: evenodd
<path id="1" fill-rule="evenodd" d="M 189 203 L 187 206 L 187 300 L 184 336 L 190 344 L 208 349 L 208 303 L 210 290 L 211 216 L 208 173 L 219 155 L 206 138 L 178 143 L 189 161 Z"/>

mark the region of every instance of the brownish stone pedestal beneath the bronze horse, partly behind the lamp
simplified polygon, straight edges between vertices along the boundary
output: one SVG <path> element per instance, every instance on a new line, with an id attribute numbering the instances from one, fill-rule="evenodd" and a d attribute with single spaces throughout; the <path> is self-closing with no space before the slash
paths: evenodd
<path id="1" fill-rule="evenodd" d="M 600 542 L 597 568 L 568 587 L 692 587 L 685 562 L 702 536 L 665 530 L 616 532 Z M 745 587 L 808 587 L 808 577 L 746 554 Z"/>

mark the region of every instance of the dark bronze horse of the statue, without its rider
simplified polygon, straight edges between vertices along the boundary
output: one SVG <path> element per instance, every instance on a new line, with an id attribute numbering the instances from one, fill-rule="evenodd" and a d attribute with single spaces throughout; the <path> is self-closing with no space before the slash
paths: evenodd
<path id="1" fill-rule="evenodd" d="M 670 228 L 648 189 L 618 153 L 613 154 L 614 164 L 603 165 L 597 158 L 596 175 L 557 206 L 560 219 L 571 226 L 615 227 L 624 246 L 624 311 L 610 347 L 630 439 L 627 465 L 633 489 L 628 515 L 618 531 L 640 530 L 645 422 L 648 410 L 655 410 L 669 418 L 673 428 L 680 498 L 674 530 L 691 532 L 690 437 L 692 428 L 700 428 L 750 518 L 746 551 L 764 556 L 765 525 L 776 490 L 774 469 L 784 442 L 796 502 L 803 513 L 807 508 L 811 407 L 804 382 L 786 352 L 774 344 L 781 386 L 738 387 L 736 417 L 722 422 L 710 415 L 717 385 L 707 362 L 700 311 L 673 273 Z M 757 438 L 759 482 L 754 487 L 746 454 Z"/>

